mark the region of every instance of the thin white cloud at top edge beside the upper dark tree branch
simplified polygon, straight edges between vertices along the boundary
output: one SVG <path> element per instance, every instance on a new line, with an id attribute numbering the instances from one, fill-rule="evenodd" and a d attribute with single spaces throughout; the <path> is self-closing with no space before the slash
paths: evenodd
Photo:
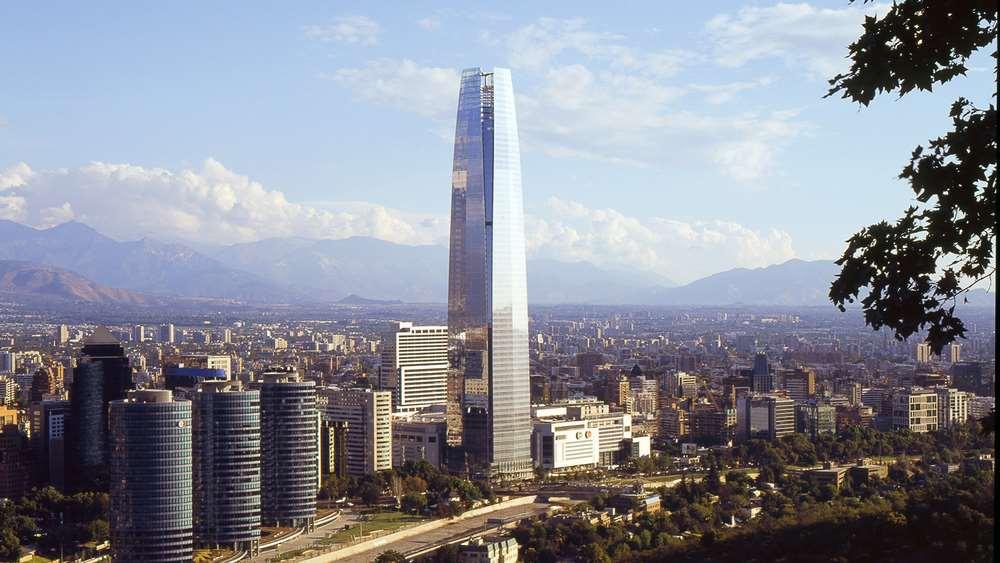
<path id="1" fill-rule="evenodd" d="M 864 16 L 875 12 L 885 9 L 861 2 L 843 8 L 806 3 L 747 6 L 712 18 L 705 29 L 721 66 L 779 58 L 809 74 L 830 78 L 847 67 L 847 46 L 861 34 Z"/>

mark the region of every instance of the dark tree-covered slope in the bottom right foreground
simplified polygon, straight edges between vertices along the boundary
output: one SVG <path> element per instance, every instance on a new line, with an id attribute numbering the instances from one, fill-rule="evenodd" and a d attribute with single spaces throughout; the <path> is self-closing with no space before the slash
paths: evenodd
<path id="1" fill-rule="evenodd" d="M 738 528 L 753 483 L 686 481 L 664 488 L 664 510 L 631 523 L 541 520 L 514 534 L 527 562 L 961 561 L 992 560 L 993 475 L 939 476 L 894 468 L 889 479 L 843 488 L 796 475 L 760 497 L 761 514 Z M 714 491 L 714 492 L 713 492 Z"/>

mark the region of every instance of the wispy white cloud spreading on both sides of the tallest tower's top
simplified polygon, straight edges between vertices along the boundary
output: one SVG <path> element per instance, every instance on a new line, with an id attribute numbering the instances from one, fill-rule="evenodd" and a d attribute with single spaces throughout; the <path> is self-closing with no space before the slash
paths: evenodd
<path id="1" fill-rule="evenodd" d="M 525 152 L 640 167 L 699 162 L 737 182 L 758 182 L 780 169 L 783 147 L 802 129 L 794 115 L 731 103 L 771 84 L 770 77 L 686 84 L 674 75 L 699 56 L 639 49 L 580 19 L 542 18 L 491 41 L 507 49 L 519 69 L 515 92 Z M 376 59 L 325 76 L 356 99 L 434 118 L 434 130 L 451 137 L 457 69 Z"/>

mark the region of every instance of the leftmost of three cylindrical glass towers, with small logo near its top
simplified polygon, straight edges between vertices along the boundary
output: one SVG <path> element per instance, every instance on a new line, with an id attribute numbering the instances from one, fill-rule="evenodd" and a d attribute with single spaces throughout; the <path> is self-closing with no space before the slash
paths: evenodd
<path id="1" fill-rule="evenodd" d="M 112 401 L 111 551 L 121 562 L 181 562 L 193 555 L 191 403 L 170 391 Z"/>

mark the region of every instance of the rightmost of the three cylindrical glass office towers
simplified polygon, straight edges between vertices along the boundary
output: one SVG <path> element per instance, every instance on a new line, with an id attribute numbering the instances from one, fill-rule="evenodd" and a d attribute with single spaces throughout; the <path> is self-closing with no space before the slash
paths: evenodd
<path id="1" fill-rule="evenodd" d="M 260 388 L 261 518 L 312 526 L 319 482 L 316 384 L 294 373 L 264 373 Z"/>

